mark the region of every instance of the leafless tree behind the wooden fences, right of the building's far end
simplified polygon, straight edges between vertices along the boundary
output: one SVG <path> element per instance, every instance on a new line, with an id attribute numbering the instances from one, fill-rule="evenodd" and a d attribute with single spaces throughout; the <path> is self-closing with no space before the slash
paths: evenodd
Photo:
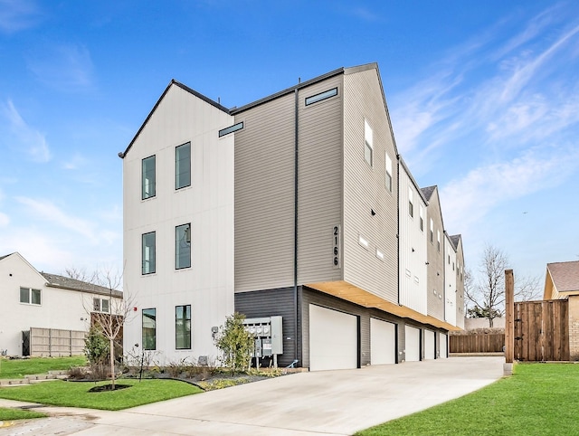
<path id="1" fill-rule="evenodd" d="M 489 327 L 493 327 L 493 319 L 505 313 L 505 270 L 508 269 L 508 256 L 504 251 L 487 244 L 479 267 L 479 280 L 472 277 L 470 270 L 465 274 L 464 293 L 474 305 L 467 313 L 471 318 L 489 319 Z M 538 285 L 538 278 L 523 277 L 515 280 L 515 299 L 536 299 Z"/>

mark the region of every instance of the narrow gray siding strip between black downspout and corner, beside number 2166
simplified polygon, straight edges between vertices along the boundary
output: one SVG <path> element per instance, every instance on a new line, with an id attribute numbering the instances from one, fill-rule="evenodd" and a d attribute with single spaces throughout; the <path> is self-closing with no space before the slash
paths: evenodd
<path id="1" fill-rule="evenodd" d="M 334 268 L 333 226 L 342 225 L 343 75 L 299 90 L 298 282 L 341 280 Z M 337 96 L 305 99 L 337 88 Z"/>

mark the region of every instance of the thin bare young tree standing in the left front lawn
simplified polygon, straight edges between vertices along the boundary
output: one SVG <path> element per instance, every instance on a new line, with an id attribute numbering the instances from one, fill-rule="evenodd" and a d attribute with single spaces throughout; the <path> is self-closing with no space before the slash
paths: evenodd
<path id="1" fill-rule="evenodd" d="M 66 273 L 72 279 L 82 277 L 92 285 L 99 286 L 106 289 L 109 295 L 109 310 L 97 311 L 92 307 L 85 307 L 85 310 L 90 315 L 90 322 L 93 326 L 100 329 L 102 336 L 109 340 L 109 365 L 110 365 L 110 380 L 111 389 L 115 389 L 115 342 L 118 340 L 122 328 L 133 313 L 134 297 L 130 296 L 128 292 L 119 294 L 118 289 L 122 284 L 122 273 L 119 270 L 103 269 L 97 270 L 92 274 L 87 274 L 85 270 L 77 270 L 74 268 L 66 269 Z M 76 274 L 73 277 L 71 274 Z M 81 280 L 81 279 L 77 279 Z"/>

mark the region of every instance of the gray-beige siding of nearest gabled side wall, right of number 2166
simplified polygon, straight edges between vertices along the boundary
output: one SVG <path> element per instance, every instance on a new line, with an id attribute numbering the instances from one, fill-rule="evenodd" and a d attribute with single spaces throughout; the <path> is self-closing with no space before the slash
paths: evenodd
<path id="1" fill-rule="evenodd" d="M 374 134 L 374 165 L 364 158 L 364 120 Z M 397 166 L 393 192 L 385 188 L 385 155 L 395 162 L 394 138 L 377 71 L 344 76 L 344 280 L 398 302 Z M 375 215 L 371 214 L 375 211 Z M 362 234 L 370 247 L 358 244 Z M 385 254 L 375 256 L 376 247 Z"/>

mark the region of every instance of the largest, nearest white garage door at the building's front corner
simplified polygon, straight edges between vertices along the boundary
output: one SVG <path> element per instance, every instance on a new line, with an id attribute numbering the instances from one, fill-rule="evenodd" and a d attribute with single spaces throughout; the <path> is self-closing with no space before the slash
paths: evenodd
<path id="1" fill-rule="evenodd" d="M 357 318 L 310 304 L 309 370 L 357 368 L 357 354 Z"/>

